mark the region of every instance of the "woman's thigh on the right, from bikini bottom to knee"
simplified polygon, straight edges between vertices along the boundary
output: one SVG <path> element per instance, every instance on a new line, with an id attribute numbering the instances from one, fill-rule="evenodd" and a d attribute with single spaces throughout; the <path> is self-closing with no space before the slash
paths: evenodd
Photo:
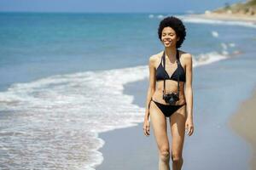
<path id="1" fill-rule="evenodd" d="M 186 122 L 186 106 L 178 109 L 169 119 L 172 133 L 172 154 L 182 156 Z"/>

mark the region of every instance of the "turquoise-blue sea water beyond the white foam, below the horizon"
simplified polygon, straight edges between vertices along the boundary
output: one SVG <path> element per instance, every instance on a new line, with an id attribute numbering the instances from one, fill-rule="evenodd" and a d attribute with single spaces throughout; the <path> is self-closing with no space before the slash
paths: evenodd
<path id="1" fill-rule="evenodd" d="M 2 13 L 0 89 L 55 74 L 144 65 L 149 55 L 162 49 L 157 37 L 159 21 L 148 14 Z M 195 23 L 187 27 L 182 49 L 195 57 L 222 51 L 220 42 L 226 43 L 228 35 L 214 38 L 212 30 L 239 31 Z"/>

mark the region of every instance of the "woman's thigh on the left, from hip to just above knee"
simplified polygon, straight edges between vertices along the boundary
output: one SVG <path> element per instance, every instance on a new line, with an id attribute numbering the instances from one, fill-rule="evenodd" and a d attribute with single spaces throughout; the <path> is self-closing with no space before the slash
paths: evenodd
<path id="1" fill-rule="evenodd" d="M 151 101 L 149 113 L 150 122 L 154 130 L 154 138 L 156 139 L 159 150 L 169 150 L 169 140 L 166 132 L 166 116 L 164 116 L 153 101 Z"/>

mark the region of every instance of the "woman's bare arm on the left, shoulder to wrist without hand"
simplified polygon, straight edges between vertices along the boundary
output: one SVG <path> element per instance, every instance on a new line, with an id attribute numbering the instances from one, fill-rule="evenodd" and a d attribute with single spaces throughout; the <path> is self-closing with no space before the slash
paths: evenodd
<path id="1" fill-rule="evenodd" d="M 155 91 L 154 56 L 149 57 L 148 68 L 149 68 L 149 84 L 148 84 L 148 93 L 147 93 L 147 99 L 146 99 L 146 110 L 145 110 L 145 116 L 144 116 L 144 120 L 147 120 L 147 121 L 148 121 L 148 117 L 149 117 L 148 104 L 151 100 L 152 95 L 154 94 L 154 91 Z"/>

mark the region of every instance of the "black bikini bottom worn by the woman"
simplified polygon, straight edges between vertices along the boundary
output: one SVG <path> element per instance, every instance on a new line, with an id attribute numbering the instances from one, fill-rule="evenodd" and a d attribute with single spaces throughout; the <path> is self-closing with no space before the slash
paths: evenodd
<path id="1" fill-rule="evenodd" d="M 149 101 L 149 105 L 151 103 L 151 101 L 154 101 L 154 99 L 151 99 Z M 179 108 L 181 108 L 183 105 L 186 105 L 186 103 L 184 103 L 183 105 L 164 105 L 164 104 L 160 104 L 157 101 L 154 101 L 154 104 L 157 105 L 157 107 L 160 109 L 160 111 L 162 111 L 162 113 L 166 116 L 172 116 L 172 114 L 177 111 Z M 148 109 L 149 109 L 149 105 L 148 105 Z"/>

